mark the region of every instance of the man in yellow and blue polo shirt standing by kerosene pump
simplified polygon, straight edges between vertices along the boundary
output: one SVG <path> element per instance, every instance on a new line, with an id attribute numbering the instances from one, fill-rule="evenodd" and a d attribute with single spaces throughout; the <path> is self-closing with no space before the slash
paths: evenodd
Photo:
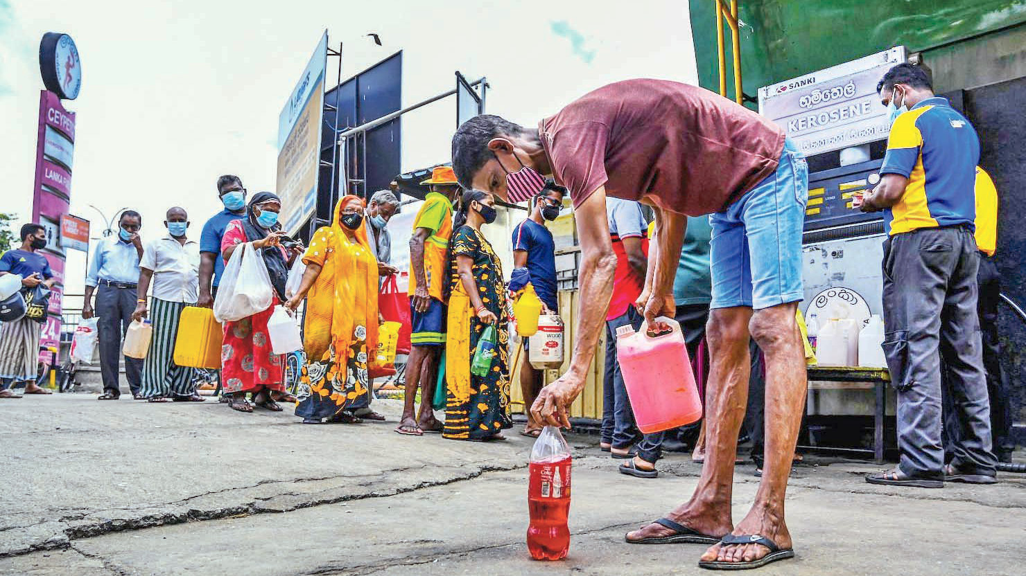
<path id="1" fill-rule="evenodd" d="M 990 403 L 981 356 L 974 239 L 980 140 L 964 116 L 935 96 L 922 69 L 901 64 L 877 91 L 897 118 L 880 183 L 858 203 L 884 211 L 883 352 L 898 390 L 901 461 L 870 484 L 941 488 L 992 484 Z M 907 109 L 907 112 L 903 112 Z M 960 434 L 944 464 L 941 359 Z"/>

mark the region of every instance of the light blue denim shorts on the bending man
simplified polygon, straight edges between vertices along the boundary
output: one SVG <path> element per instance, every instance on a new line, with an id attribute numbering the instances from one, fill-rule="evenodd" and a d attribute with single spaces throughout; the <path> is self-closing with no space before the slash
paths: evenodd
<path id="1" fill-rule="evenodd" d="M 712 227 L 710 307 L 766 308 L 803 298 L 801 228 L 808 202 L 808 165 L 785 140 L 777 171 L 726 209 Z"/>

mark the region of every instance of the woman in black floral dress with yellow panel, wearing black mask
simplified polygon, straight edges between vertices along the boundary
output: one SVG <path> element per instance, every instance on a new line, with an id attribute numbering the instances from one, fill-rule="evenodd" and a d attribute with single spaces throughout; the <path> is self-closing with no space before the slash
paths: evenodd
<path id="1" fill-rule="evenodd" d="M 507 369 L 506 286 L 503 268 L 481 224 L 496 219 L 490 194 L 464 193 L 449 240 L 449 299 L 445 336 L 445 428 L 450 440 L 502 440 L 512 427 L 507 413 L 510 382 Z M 498 353 L 486 376 L 470 372 L 470 362 L 486 325 L 498 333 Z"/>

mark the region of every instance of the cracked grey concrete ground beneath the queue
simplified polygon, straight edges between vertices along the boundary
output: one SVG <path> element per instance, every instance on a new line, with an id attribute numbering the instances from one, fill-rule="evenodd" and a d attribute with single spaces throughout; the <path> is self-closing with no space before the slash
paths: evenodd
<path id="1" fill-rule="evenodd" d="M 624 532 L 689 496 L 682 455 L 616 472 L 575 436 L 569 558 L 523 543 L 528 439 L 468 444 L 389 423 L 309 426 L 213 402 L 0 401 L 0 574 L 698 574 L 701 546 Z M 1021 574 L 1026 475 L 994 487 L 875 487 L 876 466 L 808 458 L 788 491 L 797 559 L 762 574 Z M 757 487 L 735 478 L 735 519 Z"/>

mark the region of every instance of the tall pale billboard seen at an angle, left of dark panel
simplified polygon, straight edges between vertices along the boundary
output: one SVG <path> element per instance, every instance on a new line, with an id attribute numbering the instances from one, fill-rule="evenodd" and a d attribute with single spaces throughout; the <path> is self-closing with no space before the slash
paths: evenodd
<path id="1" fill-rule="evenodd" d="M 280 220 L 289 234 L 313 214 L 317 203 L 326 59 L 327 31 L 278 115 L 276 190 L 281 197 Z"/>

